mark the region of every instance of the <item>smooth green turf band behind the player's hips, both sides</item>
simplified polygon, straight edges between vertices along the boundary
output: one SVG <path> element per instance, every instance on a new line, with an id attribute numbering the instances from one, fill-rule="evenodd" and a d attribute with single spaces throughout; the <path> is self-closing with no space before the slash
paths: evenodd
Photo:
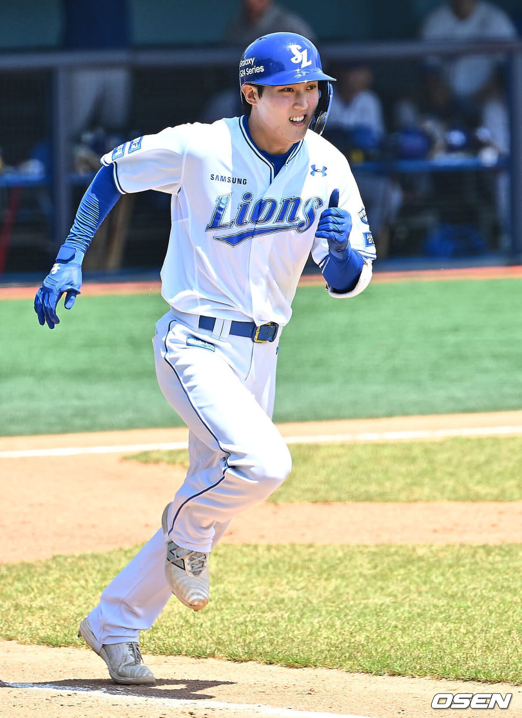
<path id="1" fill-rule="evenodd" d="M 298 290 L 274 419 L 522 408 L 522 280 L 374 284 L 339 301 Z M 40 327 L 0 302 L 0 434 L 180 425 L 157 387 L 154 295 L 88 296 Z"/>

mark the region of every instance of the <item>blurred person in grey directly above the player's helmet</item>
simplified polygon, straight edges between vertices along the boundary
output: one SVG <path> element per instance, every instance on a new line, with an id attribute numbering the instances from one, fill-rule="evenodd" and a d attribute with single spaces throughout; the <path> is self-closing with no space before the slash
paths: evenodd
<path id="1" fill-rule="evenodd" d="M 241 0 L 241 12 L 225 29 L 228 45 L 248 45 L 271 32 L 297 32 L 309 40 L 315 33 L 309 24 L 273 0 Z"/>

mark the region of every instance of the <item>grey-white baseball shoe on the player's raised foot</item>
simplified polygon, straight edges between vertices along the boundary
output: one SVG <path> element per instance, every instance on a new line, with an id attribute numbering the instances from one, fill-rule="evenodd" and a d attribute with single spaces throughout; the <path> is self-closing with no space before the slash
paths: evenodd
<path id="1" fill-rule="evenodd" d="M 210 592 L 208 554 L 182 549 L 171 541 L 167 527 L 170 506 L 171 504 L 165 506 L 162 516 L 163 535 L 167 548 L 165 576 L 174 596 L 185 606 L 200 611 L 208 604 Z"/>

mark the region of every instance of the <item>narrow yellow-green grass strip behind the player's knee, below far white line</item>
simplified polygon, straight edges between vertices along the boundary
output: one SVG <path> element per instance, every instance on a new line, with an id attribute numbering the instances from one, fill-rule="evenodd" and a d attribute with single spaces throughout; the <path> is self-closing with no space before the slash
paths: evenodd
<path id="1" fill-rule="evenodd" d="M 292 501 L 522 500 L 522 437 L 291 444 L 292 473 L 269 498 Z M 188 466 L 186 451 L 133 460 Z"/>

